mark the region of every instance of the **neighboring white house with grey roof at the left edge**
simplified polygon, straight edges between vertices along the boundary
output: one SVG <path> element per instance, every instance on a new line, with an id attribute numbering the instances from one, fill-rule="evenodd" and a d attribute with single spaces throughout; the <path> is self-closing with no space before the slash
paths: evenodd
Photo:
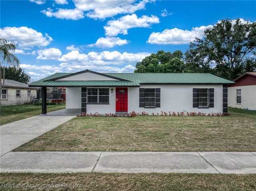
<path id="1" fill-rule="evenodd" d="M 1 105 L 19 105 L 30 102 L 31 97 L 36 97 L 36 89 L 27 84 L 14 80 L 2 79 Z"/>

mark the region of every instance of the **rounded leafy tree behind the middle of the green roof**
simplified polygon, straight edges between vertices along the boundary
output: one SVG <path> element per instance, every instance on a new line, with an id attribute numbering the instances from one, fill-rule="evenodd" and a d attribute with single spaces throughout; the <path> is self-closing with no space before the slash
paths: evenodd
<path id="1" fill-rule="evenodd" d="M 134 73 L 182 73 L 184 69 L 183 53 L 181 51 L 158 51 L 151 54 L 141 62 L 136 63 Z"/>

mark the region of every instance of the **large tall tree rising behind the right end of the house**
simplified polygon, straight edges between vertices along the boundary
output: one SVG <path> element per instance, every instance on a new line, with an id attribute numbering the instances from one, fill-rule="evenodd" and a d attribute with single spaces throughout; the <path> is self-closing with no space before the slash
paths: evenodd
<path id="1" fill-rule="evenodd" d="M 196 38 L 185 53 L 186 70 L 214 72 L 234 80 L 256 69 L 256 22 L 222 20 Z M 211 67 L 214 69 L 211 69 Z"/>

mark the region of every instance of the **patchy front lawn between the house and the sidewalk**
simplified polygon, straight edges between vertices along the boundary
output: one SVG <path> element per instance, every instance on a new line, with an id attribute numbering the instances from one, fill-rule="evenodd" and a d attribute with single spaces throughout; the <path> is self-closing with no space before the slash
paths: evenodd
<path id="1" fill-rule="evenodd" d="M 256 115 L 76 117 L 14 151 L 253 152 Z"/>

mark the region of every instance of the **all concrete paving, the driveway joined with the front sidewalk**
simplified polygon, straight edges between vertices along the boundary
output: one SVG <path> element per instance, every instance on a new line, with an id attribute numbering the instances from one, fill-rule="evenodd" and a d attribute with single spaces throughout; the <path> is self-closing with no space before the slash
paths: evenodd
<path id="1" fill-rule="evenodd" d="M 11 152 L 80 113 L 64 109 L 2 125 L 0 171 L 256 173 L 256 152 Z"/>

